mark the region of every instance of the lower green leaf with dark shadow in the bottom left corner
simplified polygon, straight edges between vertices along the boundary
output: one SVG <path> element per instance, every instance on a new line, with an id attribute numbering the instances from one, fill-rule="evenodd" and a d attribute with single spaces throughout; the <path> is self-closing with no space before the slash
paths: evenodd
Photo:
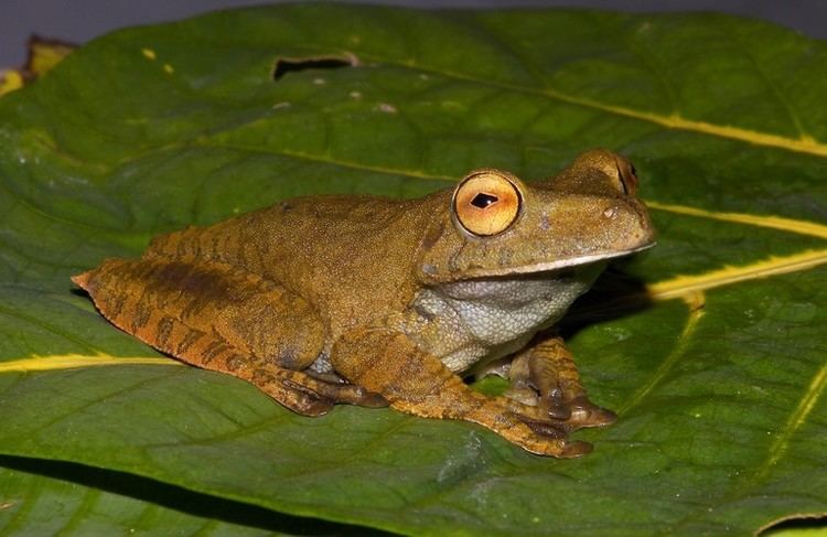
<path id="1" fill-rule="evenodd" d="M 0 463 L 3 535 L 355 533 L 346 525 L 280 515 L 119 472 L 12 457 L 0 457 Z"/>

